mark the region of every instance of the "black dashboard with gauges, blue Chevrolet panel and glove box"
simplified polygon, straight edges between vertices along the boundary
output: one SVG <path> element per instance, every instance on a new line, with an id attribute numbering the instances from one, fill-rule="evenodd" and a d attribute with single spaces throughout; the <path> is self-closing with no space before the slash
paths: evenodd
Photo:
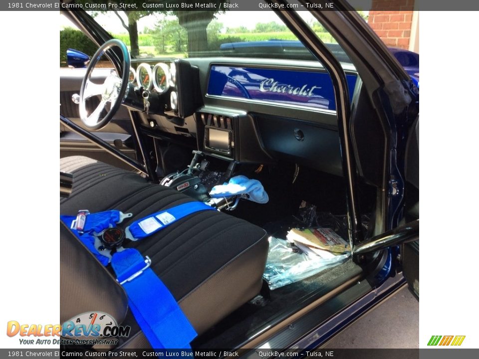
<path id="1" fill-rule="evenodd" d="M 352 104 L 361 80 L 343 64 Z M 235 163 L 287 159 L 342 175 L 334 91 L 316 61 L 245 58 L 132 60 L 150 94 L 145 133 Z"/>

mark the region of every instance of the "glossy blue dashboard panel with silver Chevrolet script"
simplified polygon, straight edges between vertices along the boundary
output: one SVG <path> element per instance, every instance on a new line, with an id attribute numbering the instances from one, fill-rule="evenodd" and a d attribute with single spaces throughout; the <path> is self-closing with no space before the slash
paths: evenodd
<path id="1" fill-rule="evenodd" d="M 352 98 L 357 75 L 346 75 Z M 327 72 L 212 65 L 208 95 L 335 110 Z"/>

